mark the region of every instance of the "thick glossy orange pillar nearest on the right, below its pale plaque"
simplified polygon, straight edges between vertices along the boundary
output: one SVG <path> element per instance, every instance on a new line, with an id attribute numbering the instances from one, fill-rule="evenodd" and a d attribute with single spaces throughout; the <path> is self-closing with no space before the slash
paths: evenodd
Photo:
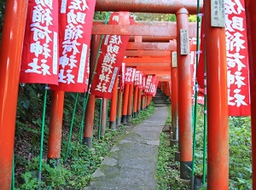
<path id="1" fill-rule="evenodd" d="M 229 189 L 229 114 L 225 28 L 212 27 L 204 3 L 207 60 L 207 189 Z"/>

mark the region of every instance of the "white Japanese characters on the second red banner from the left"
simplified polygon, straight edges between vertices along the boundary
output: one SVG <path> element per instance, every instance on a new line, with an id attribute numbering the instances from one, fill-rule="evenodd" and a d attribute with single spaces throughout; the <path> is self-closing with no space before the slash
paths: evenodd
<path id="1" fill-rule="evenodd" d="M 84 76 L 87 59 L 86 14 L 89 11 L 87 2 L 61 1 L 64 34 L 61 35 L 59 83 L 85 83 Z M 65 17 L 67 14 L 67 18 Z M 62 32 L 62 31 L 61 31 Z"/>

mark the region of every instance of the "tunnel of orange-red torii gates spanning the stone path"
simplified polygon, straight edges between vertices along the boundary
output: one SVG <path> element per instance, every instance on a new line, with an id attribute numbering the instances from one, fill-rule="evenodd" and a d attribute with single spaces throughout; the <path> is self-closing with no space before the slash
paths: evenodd
<path id="1" fill-rule="evenodd" d="M 26 24 L 27 0 L 7 0 L 5 21 L 3 26 L 2 48 L 0 52 L 0 189 L 10 189 L 12 158 L 14 153 L 15 113 L 20 75 L 20 57 Z M 217 1 L 219 2 L 219 1 Z M 251 112 L 256 112 L 256 1 L 247 0 L 247 37 L 250 66 Z M 224 27 L 211 26 L 211 1 L 200 2 L 204 9 L 205 49 L 207 60 L 207 188 L 229 188 L 229 138 L 228 138 L 228 101 L 227 101 L 227 66 L 225 51 Z M 189 14 L 197 14 L 195 0 L 96 0 L 96 11 L 129 11 L 141 13 L 176 14 L 177 23 L 141 22 L 137 26 L 104 26 L 94 22 L 91 38 L 90 61 L 96 60 L 99 36 L 102 34 L 130 35 L 130 42 L 125 51 L 126 66 L 137 66 L 144 74 L 155 74 L 160 81 L 160 88 L 172 99 L 172 127 L 177 129 L 180 151 L 180 177 L 187 179 L 192 162 L 191 134 L 191 82 L 189 55 L 181 55 L 180 29 L 186 30 L 189 37 L 196 37 L 195 23 L 189 23 Z M 11 20 L 11 21 L 10 21 Z M 253 35 L 254 34 L 254 35 Z M 134 36 L 134 37 L 132 37 Z M 188 41 L 189 43 L 189 41 Z M 190 51 L 195 47 L 187 44 Z M 172 66 L 172 51 L 177 51 L 177 67 Z M 90 64 L 90 67 L 92 64 Z M 172 76 L 172 89 L 167 82 Z M 165 83 L 164 88 L 162 88 Z M 133 90 L 134 89 L 134 90 Z M 171 92 L 171 93 L 170 93 Z M 61 121 L 64 92 L 53 91 L 49 126 L 49 158 L 60 157 Z M 122 91 L 118 85 L 113 88 L 110 125 L 114 129 L 116 116 L 125 123 L 131 117 L 131 99 L 134 96 L 135 115 L 152 100 L 151 96 L 142 96 L 142 91 L 133 84 L 125 84 L 122 102 Z M 178 97 L 178 98 L 177 98 Z M 95 108 L 95 95 L 90 95 L 86 107 L 84 123 L 84 142 L 90 147 L 92 122 Z M 117 101 L 118 100 L 118 101 Z M 103 101 L 104 102 L 104 101 Z M 106 100 L 105 100 L 106 102 Z M 115 102 L 115 103 L 114 103 Z M 103 103 L 104 104 L 104 103 Z M 117 109 L 118 107 L 118 109 Z M 123 107 L 123 110 L 120 109 Z M 106 112 L 106 108 L 103 107 Z M 118 112 L 117 112 L 118 110 Z M 105 114 L 102 114 L 105 115 Z M 122 117 L 121 117 L 122 116 Z M 256 189 L 255 171 L 255 138 L 256 115 L 252 114 L 252 146 L 253 146 L 253 189 Z M 176 131 L 173 131 L 176 133 Z M 176 135 L 174 135 L 174 139 Z M 51 147 L 58 148 L 52 149 Z M 218 184 L 218 186 L 216 186 Z"/>

